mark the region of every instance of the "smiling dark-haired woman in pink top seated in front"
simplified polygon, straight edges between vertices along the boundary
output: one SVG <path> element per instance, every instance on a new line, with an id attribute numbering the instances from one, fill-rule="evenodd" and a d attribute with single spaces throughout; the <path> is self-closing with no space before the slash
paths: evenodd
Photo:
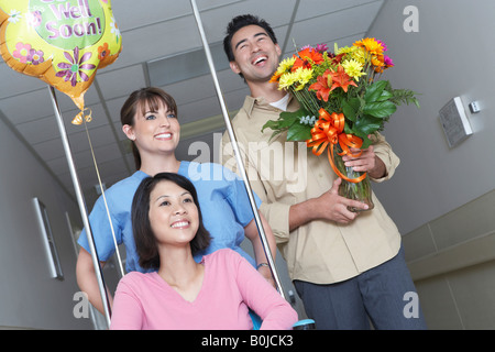
<path id="1" fill-rule="evenodd" d="M 132 204 L 132 227 L 144 268 L 116 292 L 111 329 L 290 329 L 297 314 L 254 267 L 232 250 L 195 262 L 208 246 L 196 189 L 185 177 L 161 173 L 143 179 Z M 215 235 L 215 233 L 212 233 Z"/>

